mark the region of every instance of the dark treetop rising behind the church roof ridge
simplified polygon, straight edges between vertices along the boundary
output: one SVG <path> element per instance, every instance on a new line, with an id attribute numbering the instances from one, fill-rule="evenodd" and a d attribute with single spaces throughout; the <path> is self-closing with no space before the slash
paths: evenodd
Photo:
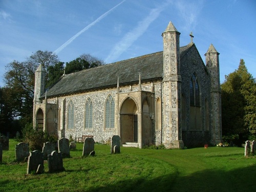
<path id="1" fill-rule="evenodd" d="M 80 57 L 77 57 L 75 60 L 70 62 L 66 62 L 65 73 L 73 73 L 77 71 L 81 71 L 83 69 L 89 69 L 93 67 L 98 67 L 104 65 L 104 61 L 98 59 L 97 57 L 93 57 L 90 54 L 82 54 Z"/>

